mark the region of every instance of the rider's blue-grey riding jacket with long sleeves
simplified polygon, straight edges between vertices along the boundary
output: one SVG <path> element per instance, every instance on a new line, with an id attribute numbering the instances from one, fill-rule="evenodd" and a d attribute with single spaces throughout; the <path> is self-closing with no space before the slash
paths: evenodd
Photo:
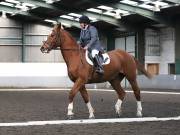
<path id="1" fill-rule="evenodd" d="M 91 25 L 89 25 L 86 29 L 81 29 L 80 45 L 82 47 L 87 46 L 89 51 L 95 49 L 103 52 L 103 47 L 99 41 L 97 29 Z"/>

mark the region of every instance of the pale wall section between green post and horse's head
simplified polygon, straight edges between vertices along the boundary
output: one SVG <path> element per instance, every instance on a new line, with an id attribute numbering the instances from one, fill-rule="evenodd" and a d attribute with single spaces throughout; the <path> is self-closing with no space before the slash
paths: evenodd
<path id="1" fill-rule="evenodd" d="M 59 50 L 42 54 L 40 46 L 47 39 L 52 27 L 40 24 L 25 24 L 23 27 L 24 62 L 63 62 Z"/>

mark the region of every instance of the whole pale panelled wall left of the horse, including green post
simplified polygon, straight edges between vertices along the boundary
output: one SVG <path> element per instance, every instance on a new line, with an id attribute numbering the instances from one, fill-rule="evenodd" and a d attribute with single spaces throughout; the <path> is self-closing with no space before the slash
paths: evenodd
<path id="1" fill-rule="evenodd" d="M 0 17 L 0 62 L 64 62 L 60 50 L 40 52 L 51 30 L 42 24 L 22 24 Z"/>

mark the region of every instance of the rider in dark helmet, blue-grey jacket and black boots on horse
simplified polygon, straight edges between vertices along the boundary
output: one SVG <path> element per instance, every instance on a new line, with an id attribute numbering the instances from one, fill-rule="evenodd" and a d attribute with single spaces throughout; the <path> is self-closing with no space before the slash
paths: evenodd
<path id="1" fill-rule="evenodd" d="M 103 52 L 103 48 L 99 41 L 97 29 L 90 25 L 90 19 L 85 15 L 79 18 L 79 23 L 81 27 L 80 45 L 91 53 L 93 63 L 96 65 L 96 72 L 103 74 L 104 70 L 99 58 L 99 52 Z"/>

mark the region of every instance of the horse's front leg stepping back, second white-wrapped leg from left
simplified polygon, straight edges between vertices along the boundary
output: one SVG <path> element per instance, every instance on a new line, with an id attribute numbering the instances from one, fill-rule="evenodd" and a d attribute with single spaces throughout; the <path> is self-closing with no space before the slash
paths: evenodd
<path id="1" fill-rule="evenodd" d="M 94 109 L 92 108 L 91 106 L 91 102 L 89 100 L 89 95 L 88 95 L 88 92 L 85 88 L 85 85 L 83 85 L 80 89 L 80 93 L 81 93 L 81 96 L 82 98 L 84 99 L 84 102 L 86 103 L 87 105 L 87 108 L 89 110 L 89 119 L 94 119 Z"/>

